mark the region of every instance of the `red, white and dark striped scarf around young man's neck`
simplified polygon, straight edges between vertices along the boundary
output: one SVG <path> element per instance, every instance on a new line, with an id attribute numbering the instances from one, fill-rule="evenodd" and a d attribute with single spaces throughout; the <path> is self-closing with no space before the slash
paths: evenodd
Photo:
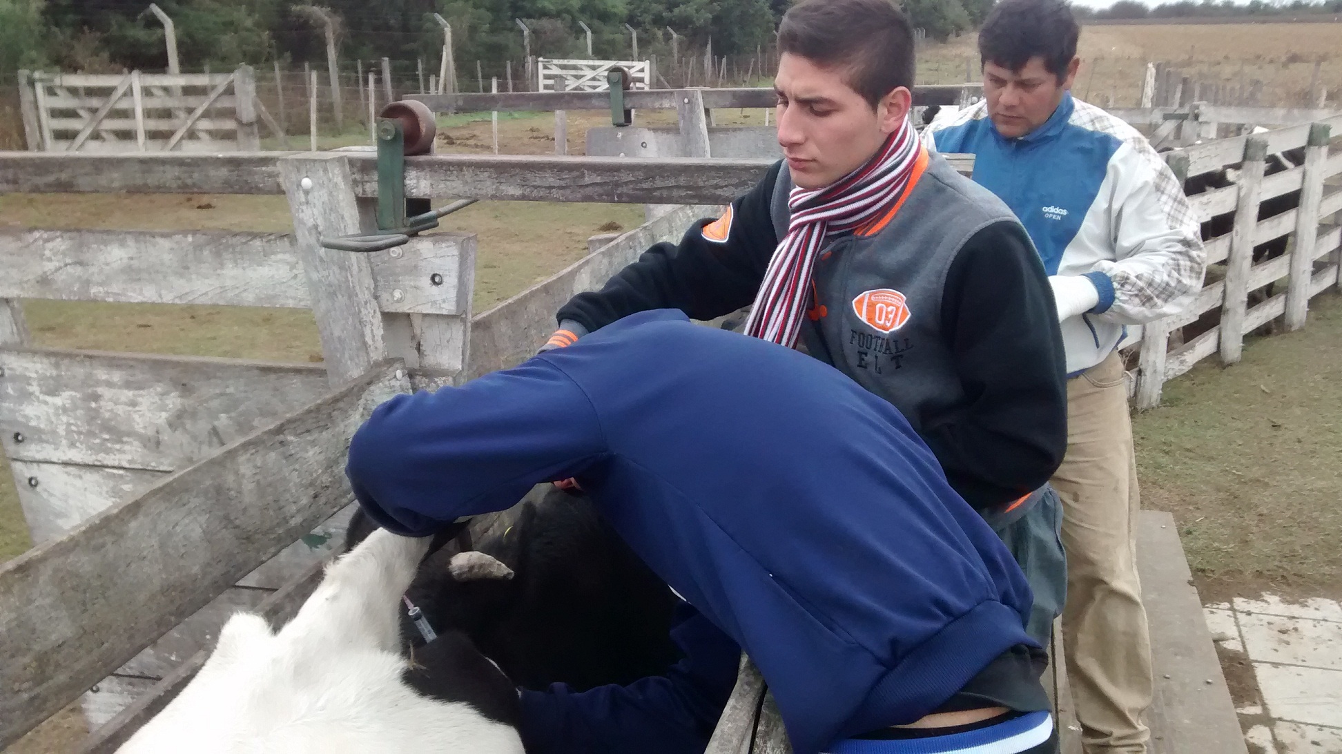
<path id="1" fill-rule="evenodd" d="M 792 221 L 746 319 L 747 335 L 792 347 L 801 330 L 816 255 L 831 233 L 856 229 L 900 196 L 918 162 L 918 133 L 906 119 L 866 165 L 821 189 L 793 186 Z"/>

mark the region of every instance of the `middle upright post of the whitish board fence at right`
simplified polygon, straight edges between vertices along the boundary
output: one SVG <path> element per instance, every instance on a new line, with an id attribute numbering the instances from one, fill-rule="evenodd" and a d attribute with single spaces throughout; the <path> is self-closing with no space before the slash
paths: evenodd
<path id="1" fill-rule="evenodd" d="M 1225 266 L 1225 303 L 1221 309 L 1221 364 L 1240 361 L 1244 353 L 1244 314 L 1248 310 L 1249 272 L 1253 266 L 1253 235 L 1257 229 L 1259 196 L 1267 138 L 1251 136 L 1244 142 L 1244 166 L 1240 170 L 1239 203 L 1235 208 L 1235 231 L 1231 233 L 1231 258 Z"/>

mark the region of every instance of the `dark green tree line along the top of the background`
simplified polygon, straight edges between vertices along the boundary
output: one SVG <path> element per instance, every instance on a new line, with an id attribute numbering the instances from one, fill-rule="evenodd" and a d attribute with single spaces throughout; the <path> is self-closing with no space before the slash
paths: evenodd
<path id="1" fill-rule="evenodd" d="M 177 31 L 183 70 L 271 60 L 323 62 L 322 27 L 305 9 L 319 4 L 338 21 L 344 59 L 435 58 L 443 36 L 432 15 L 452 24 L 458 60 L 521 60 L 530 27 L 531 54 L 585 56 L 592 30 L 596 58 L 629 55 L 639 34 L 641 58 L 679 50 L 715 55 L 768 47 L 792 0 L 157 0 Z M 945 40 L 973 28 L 993 0 L 902 0 L 914 25 Z M 164 70 L 164 28 L 149 0 L 0 0 L 0 74 L 20 67 L 113 72 Z M 670 30 L 670 31 L 668 31 Z"/>

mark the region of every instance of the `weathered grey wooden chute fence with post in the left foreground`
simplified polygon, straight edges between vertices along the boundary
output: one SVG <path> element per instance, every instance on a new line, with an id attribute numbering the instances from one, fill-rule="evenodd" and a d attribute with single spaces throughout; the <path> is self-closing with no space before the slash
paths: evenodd
<path id="1" fill-rule="evenodd" d="M 376 402 L 525 360 L 562 301 L 766 165 L 408 158 L 408 196 L 679 205 L 472 315 L 471 235 L 373 255 L 318 244 L 369 229 L 372 156 L 0 156 L 0 193 L 285 193 L 295 228 L 0 232 L 0 444 L 39 542 L 0 566 L 0 746 L 97 687 L 90 720 L 119 716 L 90 750 L 115 749 L 191 678 L 229 612 L 286 617 L 314 585 L 350 502 L 345 443 Z M 32 347 L 23 298 L 311 309 L 325 365 Z"/>

